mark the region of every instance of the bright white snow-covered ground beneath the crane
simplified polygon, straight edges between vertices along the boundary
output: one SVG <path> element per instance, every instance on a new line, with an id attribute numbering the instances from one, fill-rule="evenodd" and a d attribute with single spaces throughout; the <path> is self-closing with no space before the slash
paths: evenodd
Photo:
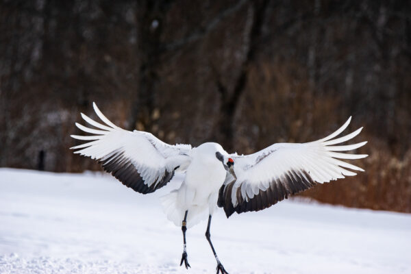
<path id="1" fill-rule="evenodd" d="M 215 273 L 206 221 L 182 232 L 158 198 L 103 173 L 0 169 L 0 273 Z M 411 214 L 282 201 L 214 215 L 211 235 L 229 273 L 411 273 Z"/>

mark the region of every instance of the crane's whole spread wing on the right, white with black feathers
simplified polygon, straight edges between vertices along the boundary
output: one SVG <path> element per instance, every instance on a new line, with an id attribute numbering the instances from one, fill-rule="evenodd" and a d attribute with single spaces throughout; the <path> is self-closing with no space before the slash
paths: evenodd
<path id="1" fill-rule="evenodd" d="M 356 175 L 353 171 L 364 171 L 340 159 L 360 159 L 367 155 L 337 152 L 366 144 L 337 145 L 360 134 L 362 127 L 335 138 L 350 121 L 351 117 L 336 132 L 314 142 L 279 143 L 251 155 L 230 155 L 234 159 L 236 179 L 227 173 L 219 192 L 219 206 L 224 208 L 227 217 L 234 212 L 258 211 L 317 183 Z"/>

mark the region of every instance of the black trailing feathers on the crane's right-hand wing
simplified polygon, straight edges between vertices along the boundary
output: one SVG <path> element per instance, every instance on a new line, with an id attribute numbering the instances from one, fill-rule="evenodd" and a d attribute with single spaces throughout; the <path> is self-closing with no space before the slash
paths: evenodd
<path id="1" fill-rule="evenodd" d="M 288 195 L 293 195 L 308 188 L 312 188 L 317 183 L 314 182 L 310 174 L 306 171 L 294 171 L 290 170 L 282 175 L 279 179 L 273 179 L 270 182 L 270 187 L 266 190 L 260 190 L 257 195 L 254 195 L 252 199 L 245 200 L 245 197 L 241 195 L 241 186 L 236 191 L 237 206 L 233 206 L 232 203 L 232 191 L 234 179 L 229 184 L 221 186 L 219 191 L 218 206 L 224 208 L 227 218 L 234 212 L 242 213 L 248 211 L 258 211 L 264 208 L 273 206 L 278 201 L 282 201 L 288 198 Z M 245 182 L 242 182 L 245 184 Z"/>

